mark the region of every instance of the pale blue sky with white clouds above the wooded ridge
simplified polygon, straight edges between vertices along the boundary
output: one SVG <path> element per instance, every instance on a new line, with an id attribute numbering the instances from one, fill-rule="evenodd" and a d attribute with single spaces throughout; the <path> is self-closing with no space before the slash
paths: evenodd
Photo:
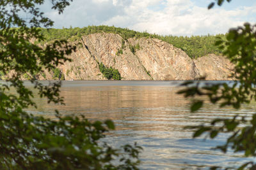
<path id="1" fill-rule="evenodd" d="M 244 22 L 255 24 L 256 1 L 232 0 L 207 6 L 214 0 L 74 0 L 63 14 L 41 6 L 55 28 L 114 25 L 161 35 L 191 36 L 225 33 Z"/>

